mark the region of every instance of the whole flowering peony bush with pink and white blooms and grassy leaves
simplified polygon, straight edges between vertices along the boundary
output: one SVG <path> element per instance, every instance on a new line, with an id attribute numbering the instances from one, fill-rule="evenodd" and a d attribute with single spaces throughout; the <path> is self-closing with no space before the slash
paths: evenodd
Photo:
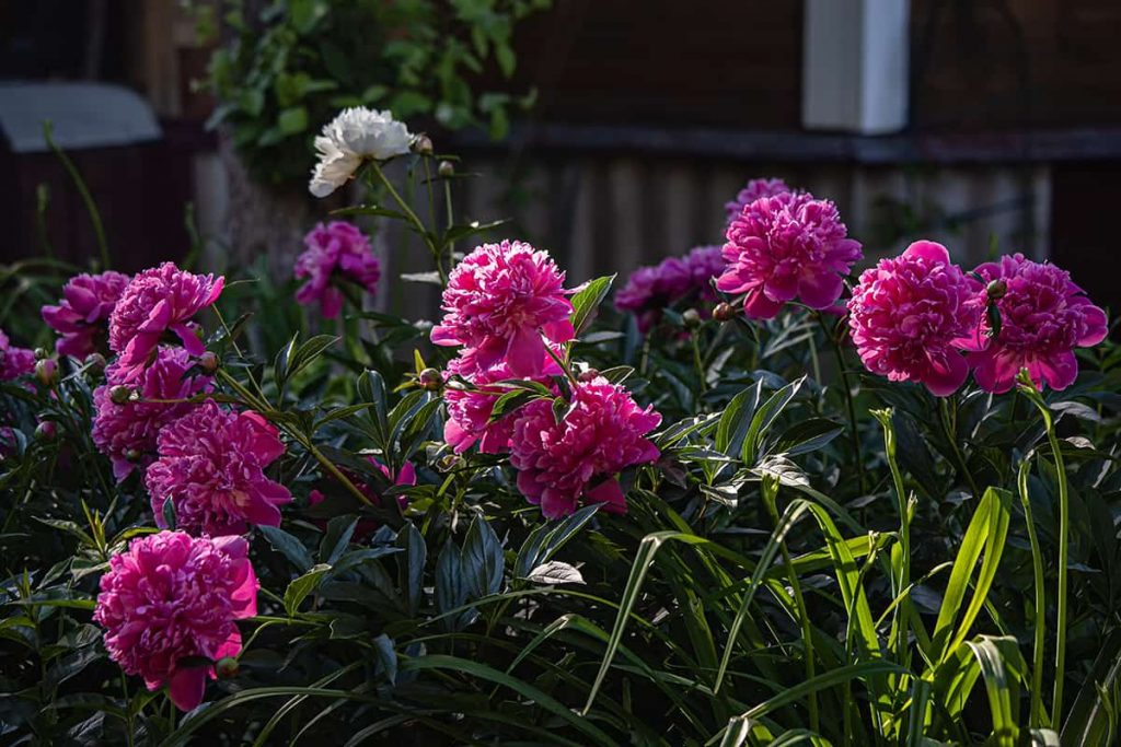
<path id="1" fill-rule="evenodd" d="M 0 333 L 6 744 L 1117 737 L 1121 352 L 1068 273 L 869 267 L 759 179 L 612 304 L 425 223 L 455 167 L 390 113 L 316 148 L 369 202 L 286 286 L 96 268 L 54 352 Z M 392 222 L 430 319 L 365 310 Z"/>

